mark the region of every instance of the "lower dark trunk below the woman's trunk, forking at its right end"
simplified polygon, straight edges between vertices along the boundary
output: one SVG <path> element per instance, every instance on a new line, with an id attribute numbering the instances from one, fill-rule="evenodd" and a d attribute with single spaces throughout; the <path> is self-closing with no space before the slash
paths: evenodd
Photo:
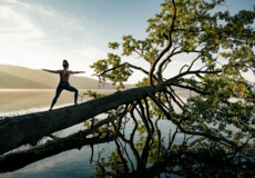
<path id="1" fill-rule="evenodd" d="M 29 164 L 35 162 L 38 160 L 44 159 L 47 157 L 71 150 L 71 149 L 81 149 L 83 146 L 98 145 L 102 142 L 109 142 L 115 139 L 118 132 L 109 134 L 105 137 L 86 138 L 95 130 L 98 130 L 101 126 L 109 123 L 115 120 L 123 112 L 123 108 L 119 108 L 115 113 L 111 113 L 106 119 L 100 120 L 93 127 L 88 128 L 85 130 L 72 134 L 64 138 L 57 138 L 54 140 L 49 140 L 43 145 L 34 147 L 29 150 L 11 152 L 3 156 L 0 156 L 0 172 L 13 171 L 20 169 Z"/>

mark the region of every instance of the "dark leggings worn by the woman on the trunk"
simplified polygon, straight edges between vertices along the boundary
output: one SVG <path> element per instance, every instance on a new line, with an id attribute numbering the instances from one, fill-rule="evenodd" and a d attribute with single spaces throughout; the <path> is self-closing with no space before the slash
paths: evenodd
<path id="1" fill-rule="evenodd" d="M 57 88 L 57 91 L 55 91 L 55 97 L 54 99 L 52 100 L 52 103 L 51 103 L 51 108 L 53 108 L 53 106 L 55 105 L 60 93 L 62 92 L 62 90 L 65 89 L 68 91 L 72 91 L 72 92 L 75 92 L 74 95 L 74 103 L 76 103 L 76 99 L 78 99 L 78 89 L 75 89 L 74 87 L 70 86 L 70 83 L 68 81 L 60 81 L 58 88 Z"/>

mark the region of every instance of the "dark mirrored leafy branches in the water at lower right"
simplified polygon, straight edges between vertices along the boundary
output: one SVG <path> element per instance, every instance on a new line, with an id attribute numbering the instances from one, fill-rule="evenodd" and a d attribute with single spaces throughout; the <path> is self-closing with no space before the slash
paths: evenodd
<path id="1" fill-rule="evenodd" d="M 186 134 L 182 134 L 183 138 L 180 140 L 180 137 L 176 137 L 181 134 L 177 127 L 170 130 L 169 138 L 162 137 L 157 126 L 161 117 L 152 122 L 146 100 L 135 102 L 128 110 L 126 119 L 133 121 L 132 132 L 125 134 L 124 127 L 118 129 L 119 137 L 114 140 L 115 150 L 110 157 L 103 157 L 103 151 L 99 152 L 93 177 L 252 177 L 255 175 L 254 150 L 251 148 L 233 151 L 221 141 Z"/>

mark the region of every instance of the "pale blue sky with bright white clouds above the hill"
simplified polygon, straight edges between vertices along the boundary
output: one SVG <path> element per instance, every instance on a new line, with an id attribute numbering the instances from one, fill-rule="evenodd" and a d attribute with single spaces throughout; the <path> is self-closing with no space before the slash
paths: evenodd
<path id="1" fill-rule="evenodd" d="M 146 20 L 161 11 L 163 0 L 0 0 L 0 63 L 33 69 L 94 73 L 90 66 L 106 57 L 110 41 L 122 36 L 146 37 Z M 254 0 L 227 0 L 231 12 L 252 10 Z M 137 63 L 135 59 L 130 62 Z M 184 65 L 183 59 L 176 66 Z M 139 62 L 137 65 L 142 65 Z M 145 63 L 144 63 L 145 65 Z M 176 66 L 173 72 L 176 72 Z M 129 83 L 141 79 L 141 73 Z M 249 80 L 253 80 L 249 78 Z M 255 81 L 255 79 L 254 79 Z"/>

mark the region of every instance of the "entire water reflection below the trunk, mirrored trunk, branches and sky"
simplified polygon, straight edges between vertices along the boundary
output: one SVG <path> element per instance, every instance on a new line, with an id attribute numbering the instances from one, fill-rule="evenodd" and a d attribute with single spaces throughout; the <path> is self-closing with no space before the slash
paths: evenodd
<path id="1" fill-rule="evenodd" d="M 155 106 L 146 99 L 135 101 L 101 115 L 104 119 L 92 118 L 78 132 L 49 136 L 47 142 L 37 147 L 1 156 L 0 171 L 13 172 L 0 177 L 254 175 L 253 159 L 244 159 L 242 152 L 233 152 L 221 141 L 183 134 L 177 123 L 173 125 L 160 112 L 155 113 L 159 110 L 152 107 Z M 38 164 L 33 167 L 31 164 L 35 161 Z"/>

